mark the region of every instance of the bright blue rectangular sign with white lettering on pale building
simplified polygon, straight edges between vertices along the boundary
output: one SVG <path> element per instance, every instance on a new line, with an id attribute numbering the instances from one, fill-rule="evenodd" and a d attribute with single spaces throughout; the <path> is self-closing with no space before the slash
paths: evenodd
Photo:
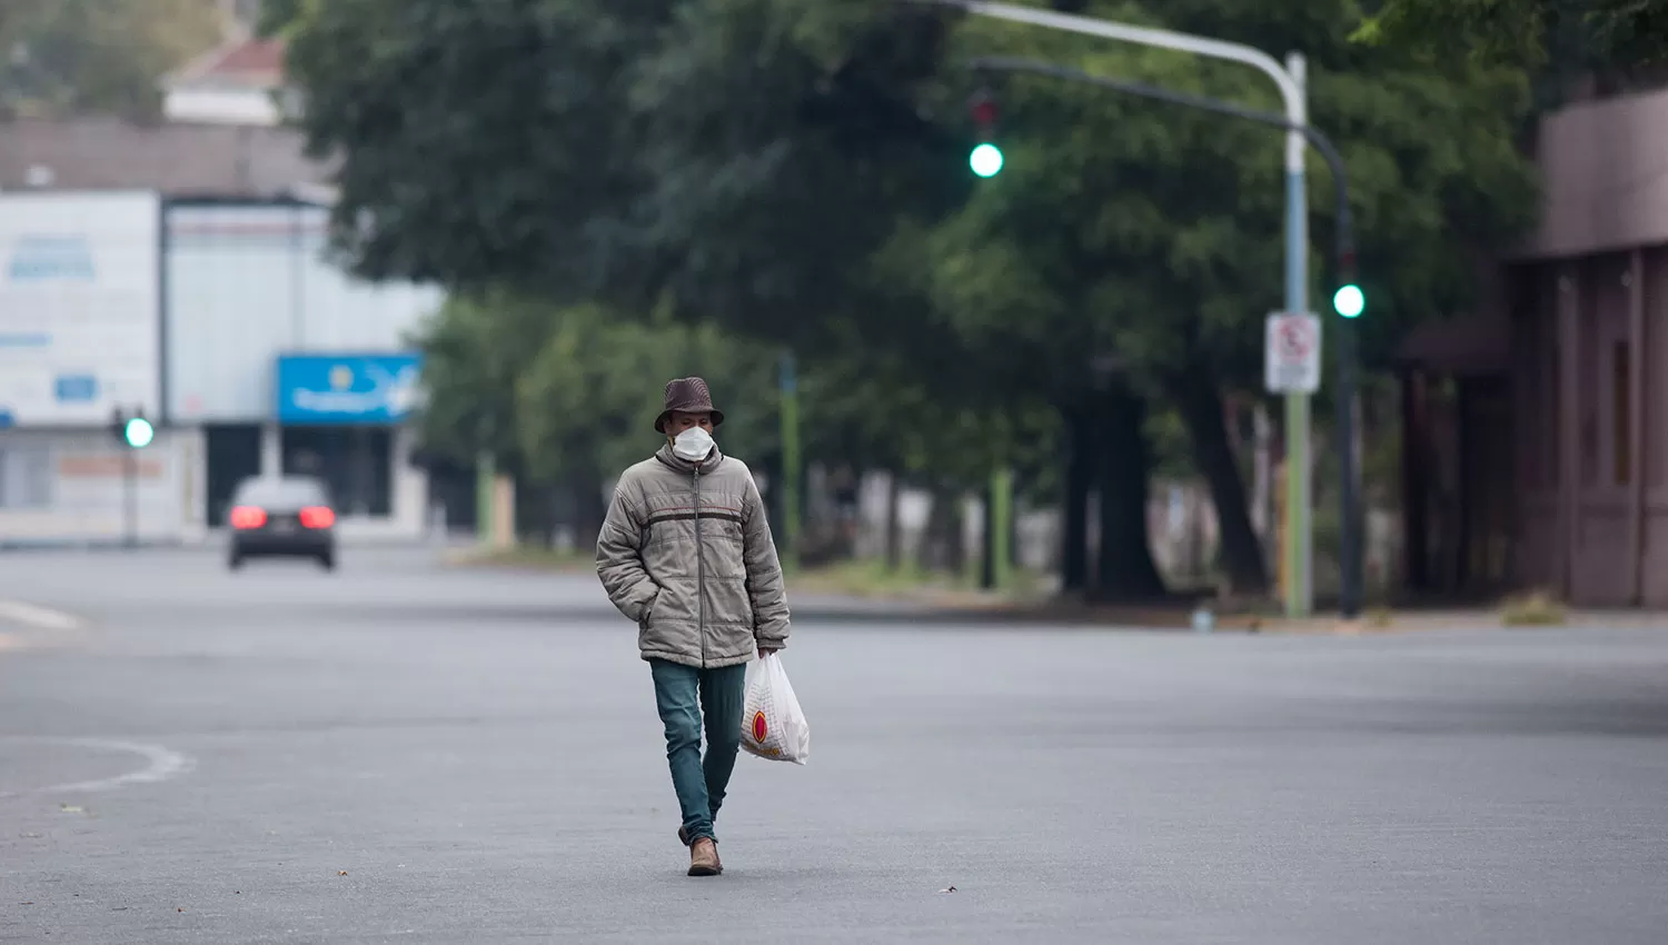
<path id="1" fill-rule="evenodd" d="M 422 357 L 279 355 L 280 423 L 399 423 L 417 408 Z"/>

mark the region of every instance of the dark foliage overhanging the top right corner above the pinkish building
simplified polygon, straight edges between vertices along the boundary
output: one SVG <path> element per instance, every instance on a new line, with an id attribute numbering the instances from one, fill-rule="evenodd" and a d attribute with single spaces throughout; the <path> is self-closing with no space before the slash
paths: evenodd
<path id="1" fill-rule="evenodd" d="M 1580 35 L 1620 67 L 1668 60 L 1658 0 L 1384 0 L 1356 38 L 1443 58 L 1546 65 L 1556 37 Z"/>

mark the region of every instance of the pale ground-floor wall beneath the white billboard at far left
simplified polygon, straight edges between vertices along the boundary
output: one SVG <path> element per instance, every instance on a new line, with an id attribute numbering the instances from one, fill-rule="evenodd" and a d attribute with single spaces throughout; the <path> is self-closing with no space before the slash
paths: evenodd
<path id="1" fill-rule="evenodd" d="M 140 540 L 185 537 L 193 438 L 158 430 L 138 452 Z M 123 510 L 122 450 L 103 428 L 0 430 L 0 547 L 120 542 Z"/>

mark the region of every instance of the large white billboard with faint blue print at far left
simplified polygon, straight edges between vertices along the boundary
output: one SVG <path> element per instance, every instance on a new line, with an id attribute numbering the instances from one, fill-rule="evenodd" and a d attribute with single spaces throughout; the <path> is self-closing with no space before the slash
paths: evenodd
<path id="1" fill-rule="evenodd" d="M 0 423 L 160 413 L 160 200 L 0 195 Z"/>

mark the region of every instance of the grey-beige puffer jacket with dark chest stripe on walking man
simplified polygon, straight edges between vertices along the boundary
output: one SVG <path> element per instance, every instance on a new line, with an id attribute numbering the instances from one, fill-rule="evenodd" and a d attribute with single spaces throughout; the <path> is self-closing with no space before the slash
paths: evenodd
<path id="1" fill-rule="evenodd" d="M 637 622 L 642 658 L 734 667 L 787 645 L 787 595 L 764 500 L 741 460 L 699 467 L 661 447 L 620 477 L 597 537 L 597 577 Z"/>

